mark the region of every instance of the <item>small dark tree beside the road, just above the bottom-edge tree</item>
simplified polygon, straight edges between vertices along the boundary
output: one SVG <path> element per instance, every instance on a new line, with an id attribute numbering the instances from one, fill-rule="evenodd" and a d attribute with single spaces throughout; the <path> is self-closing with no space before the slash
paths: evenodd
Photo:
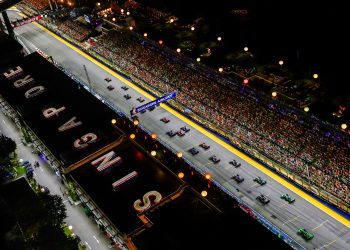
<path id="1" fill-rule="evenodd" d="M 48 216 L 48 222 L 52 225 L 60 226 L 67 217 L 66 207 L 62 198 L 58 195 L 40 193 L 39 198 L 45 207 Z"/>

